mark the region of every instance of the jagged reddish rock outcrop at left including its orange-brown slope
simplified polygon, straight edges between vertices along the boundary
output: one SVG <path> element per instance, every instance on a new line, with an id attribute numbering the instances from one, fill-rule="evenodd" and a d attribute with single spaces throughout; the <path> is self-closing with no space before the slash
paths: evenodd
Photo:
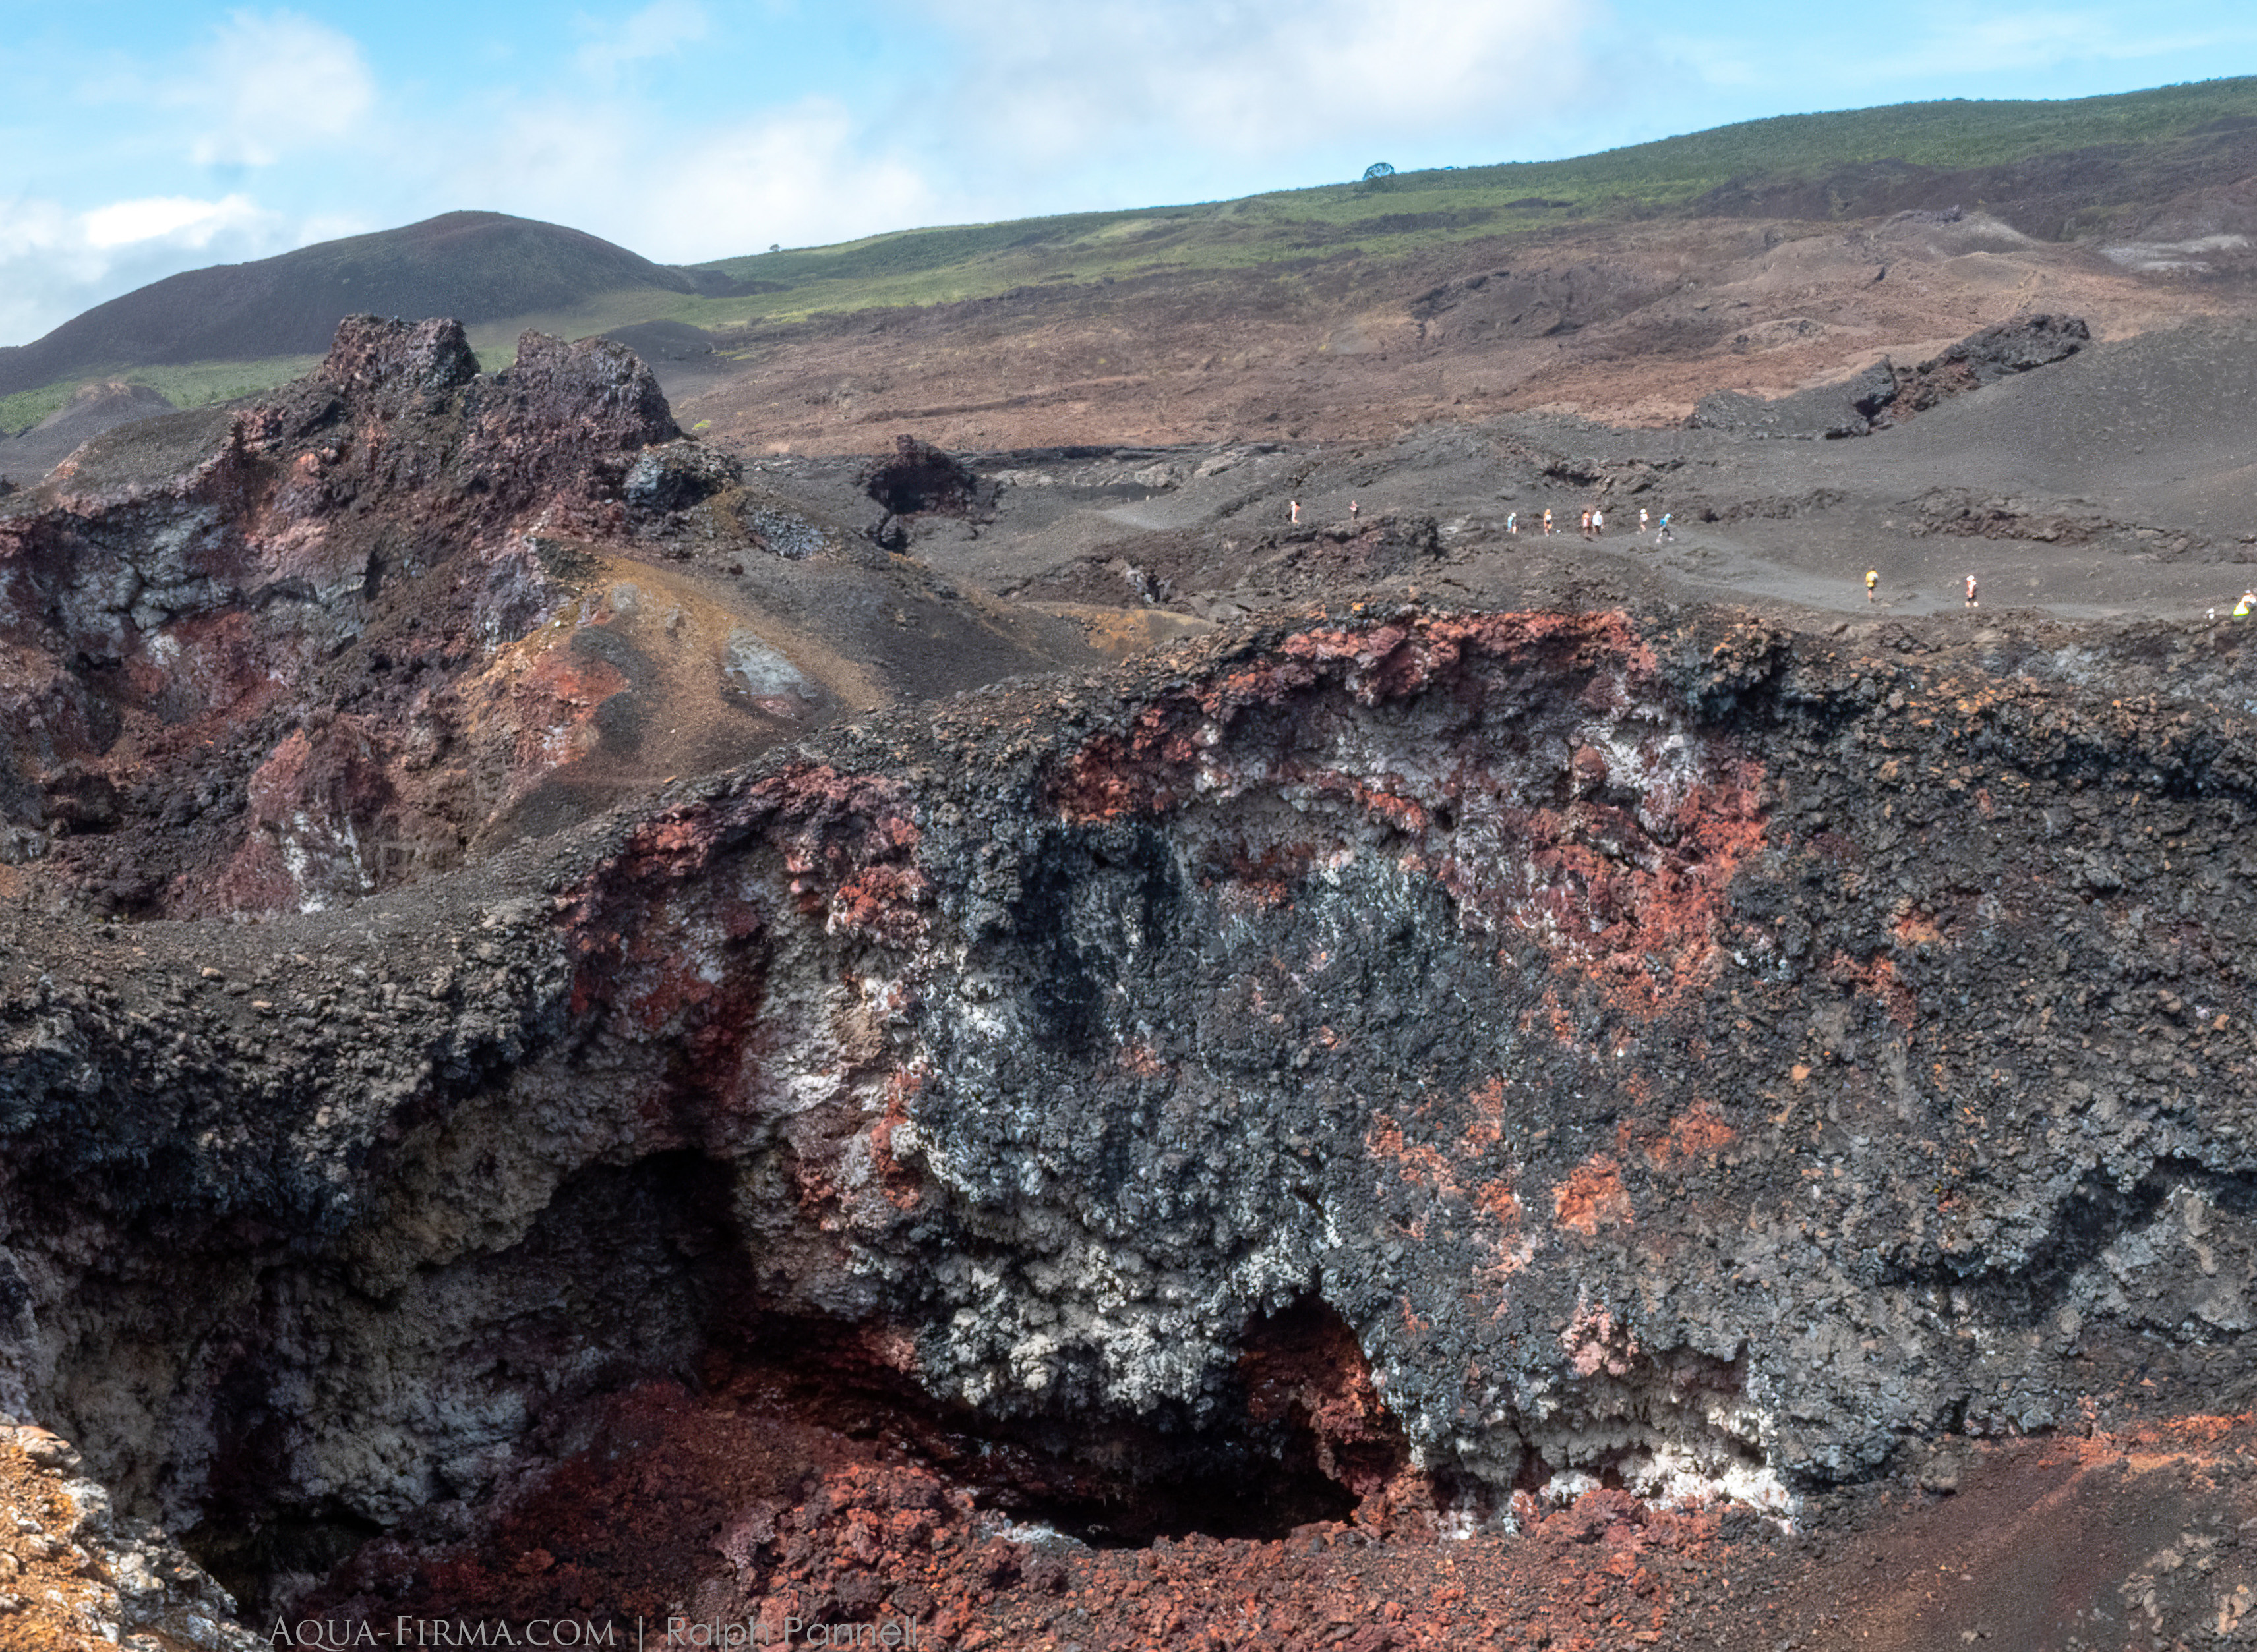
<path id="1" fill-rule="evenodd" d="M 88 442 L 0 503 L 0 860 L 124 916 L 357 900 L 885 704 L 808 623 L 846 589 L 955 609 L 948 688 L 1079 657 L 740 483 L 625 348 L 481 375 L 451 320 Z"/>

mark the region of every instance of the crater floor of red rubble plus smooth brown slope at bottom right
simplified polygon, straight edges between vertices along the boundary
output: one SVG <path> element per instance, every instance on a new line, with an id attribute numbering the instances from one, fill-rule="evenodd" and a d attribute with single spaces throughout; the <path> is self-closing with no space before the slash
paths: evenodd
<path id="1" fill-rule="evenodd" d="M 828 1350 L 819 1377 L 756 1365 L 697 1392 L 616 1395 L 587 1444 L 481 1537 L 368 1544 L 296 1616 L 339 1632 L 397 1616 L 679 1616 L 756 1623 L 772 1645 L 790 1618 L 910 1618 L 925 1645 L 971 1652 L 2178 1652 L 2257 1620 L 2239 1541 L 2257 1514 L 2248 1415 L 1950 1442 L 1921 1471 L 1833 1494 L 1826 1528 L 1806 1537 L 1593 1490 L 1569 1508 L 1519 1494 L 1519 1535 L 1438 1539 L 1431 1523 L 1377 1521 L 1365 1501 L 1275 1541 L 1086 1548 L 973 1494 L 1004 1474 L 1038 1485 L 1056 1462 L 1000 1467 L 980 1440 L 855 1388 L 858 1374 L 873 1365 Z"/>

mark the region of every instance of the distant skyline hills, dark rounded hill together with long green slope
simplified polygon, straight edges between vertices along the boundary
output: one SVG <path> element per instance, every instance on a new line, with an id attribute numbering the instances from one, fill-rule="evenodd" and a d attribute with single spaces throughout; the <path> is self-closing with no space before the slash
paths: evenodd
<path id="1" fill-rule="evenodd" d="M 727 332 L 1162 271 L 1402 257 L 1668 212 L 1853 217 L 1966 199 L 2011 217 L 2020 201 L 2031 232 L 2099 232 L 2171 178 L 2183 187 L 2187 174 L 2228 167 L 2243 147 L 2257 151 L 2257 77 L 2067 102 L 1781 115 L 1575 160 L 901 230 L 693 269 L 650 264 L 560 226 L 463 212 L 174 275 L 34 345 L 0 350 L 0 431 L 34 424 L 97 377 L 153 384 L 183 404 L 262 390 L 302 372 L 305 352 L 350 309 L 458 316 L 481 361 L 506 366 L 524 327 L 585 336 L 679 320 Z M 2104 167 L 2079 167 L 2074 181 L 2056 167 L 2049 183 L 2047 158 L 2094 151 Z"/>

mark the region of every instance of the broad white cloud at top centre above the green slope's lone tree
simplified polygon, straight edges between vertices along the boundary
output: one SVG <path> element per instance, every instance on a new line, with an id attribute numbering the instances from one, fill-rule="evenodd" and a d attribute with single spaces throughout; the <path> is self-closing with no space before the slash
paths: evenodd
<path id="1" fill-rule="evenodd" d="M 1508 131 L 1584 88 L 1591 0 L 905 0 L 964 38 L 959 117 L 1036 162 Z"/>

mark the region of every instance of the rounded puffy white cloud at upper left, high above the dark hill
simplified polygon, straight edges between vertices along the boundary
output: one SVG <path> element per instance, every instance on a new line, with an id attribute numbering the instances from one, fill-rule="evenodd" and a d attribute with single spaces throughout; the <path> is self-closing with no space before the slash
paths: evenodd
<path id="1" fill-rule="evenodd" d="M 196 165 L 271 167 L 350 135 L 377 88 L 352 36 L 296 11 L 235 11 L 165 102 L 190 111 Z"/>

